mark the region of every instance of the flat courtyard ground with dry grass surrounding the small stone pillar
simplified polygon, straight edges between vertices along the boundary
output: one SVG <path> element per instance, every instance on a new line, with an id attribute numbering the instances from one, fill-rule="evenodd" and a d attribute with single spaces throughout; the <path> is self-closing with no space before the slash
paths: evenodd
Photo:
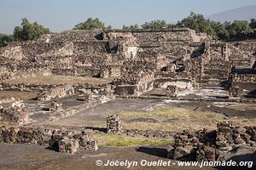
<path id="1" fill-rule="evenodd" d="M 217 122 L 224 121 L 241 126 L 256 124 L 256 112 L 252 104 L 161 99 L 114 99 L 49 124 L 106 127 L 106 117 L 110 114 L 119 115 L 125 129 L 153 131 L 212 129 Z"/>

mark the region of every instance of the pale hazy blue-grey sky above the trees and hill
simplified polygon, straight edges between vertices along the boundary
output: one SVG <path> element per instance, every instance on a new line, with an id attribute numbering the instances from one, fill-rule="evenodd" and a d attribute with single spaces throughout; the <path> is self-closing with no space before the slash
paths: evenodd
<path id="1" fill-rule="evenodd" d="M 24 17 L 51 31 L 71 29 L 88 17 L 121 28 L 149 20 L 176 22 L 190 11 L 207 16 L 247 5 L 256 5 L 256 0 L 0 0 L 0 32 L 12 33 Z"/>

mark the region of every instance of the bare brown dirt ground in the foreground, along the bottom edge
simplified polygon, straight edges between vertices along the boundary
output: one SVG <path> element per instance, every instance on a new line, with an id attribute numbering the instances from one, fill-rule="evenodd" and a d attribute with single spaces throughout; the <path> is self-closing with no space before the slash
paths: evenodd
<path id="1" fill-rule="evenodd" d="M 58 153 L 46 150 L 44 147 L 23 144 L 0 144 L 0 169 L 47 169 L 47 170 L 93 170 L 93 169 L 128 169 L 127 167 L 96 166 L 96 160 L 102 160 L 103 164 L 110 161 L 170 161 L 165 158 L 166 146 L 141 146 L 127 148 L 102 147 L 96 152 L 81 151 L 76 155 Z M 171 161 L 177 163 L 177 161 Z M 170 167 L 130 167 L 129 169 L 183 169 L 195 170 L 199 167 L 178 167 L 171 163 Z M 205 167 L 203 169 L 214 169 Z"/>

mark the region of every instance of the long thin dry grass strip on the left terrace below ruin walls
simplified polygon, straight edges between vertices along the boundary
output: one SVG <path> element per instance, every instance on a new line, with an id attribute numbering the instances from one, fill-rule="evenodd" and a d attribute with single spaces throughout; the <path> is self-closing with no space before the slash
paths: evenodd
<path id="1" fill-rule="evenodd" d="M 78 84 L 78 83 L 89 83 L 93 85 L 100 85 L 113 82 L 113 77 L 108 78 L 96 78 L 96 77 L 71 77 L 71 76 L 35 76 L 35 77 L 24 77 L 17 79 L 9 79 L 6 82 L 9 83 L 30 83 L 30 84 Z"/>

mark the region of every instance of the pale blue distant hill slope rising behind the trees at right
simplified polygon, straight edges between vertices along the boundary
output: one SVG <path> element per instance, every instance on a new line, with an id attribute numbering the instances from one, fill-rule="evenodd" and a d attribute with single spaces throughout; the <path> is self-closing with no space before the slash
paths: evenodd
<path id="1" fill-rule="evenodd" d="M 233 20 L 251 20 L 252 18 L 256 18 L 256 5 L 234 8 L 222 13 L 209 15 L 206 18 L 220 22 Z"/>

